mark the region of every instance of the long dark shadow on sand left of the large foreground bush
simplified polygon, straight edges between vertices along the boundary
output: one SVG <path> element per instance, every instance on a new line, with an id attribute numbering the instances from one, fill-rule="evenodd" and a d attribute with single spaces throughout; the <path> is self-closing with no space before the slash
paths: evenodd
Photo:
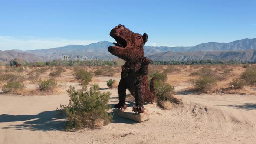
<path id="1" fill-rule="evenodd" d="M 54 119 L 56 111 L 44 111 L 36 115 L 0 115 L 0 123 L 26 121 L 23 124 L 10 124 L 2 129 L 17 129 L 31 131 L 64 131 L 65 121 Z"/>

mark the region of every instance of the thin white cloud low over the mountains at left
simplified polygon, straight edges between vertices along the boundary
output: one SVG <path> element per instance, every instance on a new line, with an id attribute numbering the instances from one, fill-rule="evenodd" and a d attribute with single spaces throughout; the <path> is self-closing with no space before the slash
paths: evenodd
<path id="1" fill-rule="evenodd" d="M 66 45 L 88 45 L 98 40 L 70 40 L 61 38 L 35 39 L 31 37 L 0 36 L 0 50 L 48 49 Z"/>

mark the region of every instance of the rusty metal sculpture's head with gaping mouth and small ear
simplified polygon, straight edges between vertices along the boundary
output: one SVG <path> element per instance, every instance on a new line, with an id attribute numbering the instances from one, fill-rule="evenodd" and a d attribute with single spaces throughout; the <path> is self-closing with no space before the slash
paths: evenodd
<path id="1" fill-rule="evenodd" d="M 144 57 L 143 45 L 148 40 L 148 35 L 133 33 L 124 25 L 119 24 L 110 31 L 110 36 L 115 39 L 115 46 L 109 46 L 108 51 L 125 61 L 138 61 Z"/>

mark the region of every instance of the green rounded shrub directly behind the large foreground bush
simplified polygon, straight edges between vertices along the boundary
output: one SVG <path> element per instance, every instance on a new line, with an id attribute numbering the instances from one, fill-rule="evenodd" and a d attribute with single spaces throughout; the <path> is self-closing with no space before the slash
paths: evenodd
<path id="1" fill-rule="evenodd" d="M 75 78 L 81 80 L 83 85 L 88 85 L 92 81 L 92 74 L 84 69 L 79 69 L 75 72 Z"/>

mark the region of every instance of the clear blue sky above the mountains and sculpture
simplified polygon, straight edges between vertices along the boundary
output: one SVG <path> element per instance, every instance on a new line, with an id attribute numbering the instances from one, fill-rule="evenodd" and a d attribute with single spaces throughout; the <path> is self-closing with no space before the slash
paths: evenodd
<path id="1" fill-rule="evenodd" d="M 256 0 L 0 0 L 0 50 L 111 41 L 120 24 L 148 46 L 256 38 Z"/>

